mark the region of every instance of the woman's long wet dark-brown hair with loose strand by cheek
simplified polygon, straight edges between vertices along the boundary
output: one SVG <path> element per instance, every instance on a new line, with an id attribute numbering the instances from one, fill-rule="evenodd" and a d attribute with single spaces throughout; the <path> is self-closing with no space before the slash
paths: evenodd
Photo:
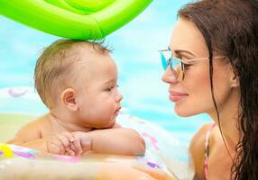
<path id="1" fill-rule="evenodd" d="M 206 41 L 216 110 L 213 51 L 225 55 L 238 75 L 241 97 L 236 123 L 241 139 L 235 147 L 231 177 L 258 179 L 258 1 L 202 0 L 184 5 L 179 16 L 195 23 Z M 218 111 L 217 119 L 221 130 Z"/>

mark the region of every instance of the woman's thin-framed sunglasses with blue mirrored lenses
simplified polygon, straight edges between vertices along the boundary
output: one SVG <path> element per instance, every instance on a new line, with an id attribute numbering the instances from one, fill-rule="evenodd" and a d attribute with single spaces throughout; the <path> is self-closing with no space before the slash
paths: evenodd
<path id="1" fill-rule="evenodd" d="M 161 54 L 161 63 L 164 70 L 166 70 L 169 66 L 171 70 L 181 70 L 182 72 L 182 79 L 185 76 L 185 70 L 192 64 L 207 60 L 208 58 L 191 58 L 191 59 L 180 59 L 172 57 L 172 53 L 170 49 L 162 49 L 159 50 Z M 222 56 L 217 56 L 213 58 L 222 58 Z"/>

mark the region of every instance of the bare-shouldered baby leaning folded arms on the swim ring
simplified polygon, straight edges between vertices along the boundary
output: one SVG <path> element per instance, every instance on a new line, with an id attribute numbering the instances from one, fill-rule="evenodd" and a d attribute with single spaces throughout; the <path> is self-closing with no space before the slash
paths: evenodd
<path id="1" fill-rule="evenodd" d="M 85 152 L 142 155 L 145 143 L 115 122 L 122 95 L 114 60 L 99 42 L 57 40 L 38 59 L 34 78 L 50 112 L 7 143 L 53 154 Z"/>

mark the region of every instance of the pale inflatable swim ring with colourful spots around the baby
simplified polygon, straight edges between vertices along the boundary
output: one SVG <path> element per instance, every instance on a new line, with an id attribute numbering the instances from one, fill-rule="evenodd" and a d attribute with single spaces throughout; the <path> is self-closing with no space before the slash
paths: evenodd
<path id="1" fill-rule="evenodd" d="M 123 127 L 137 130 L 143 136 L 146 142 L 143 157 L 58 156 L 4 143 L 23 124 L 46 111 L 32 87 L 0 89 L 0 102 L 0 177 L 3 179 L 190 179 L 187 148 L 149 121 L 126 112 L 117 117 Z"/>

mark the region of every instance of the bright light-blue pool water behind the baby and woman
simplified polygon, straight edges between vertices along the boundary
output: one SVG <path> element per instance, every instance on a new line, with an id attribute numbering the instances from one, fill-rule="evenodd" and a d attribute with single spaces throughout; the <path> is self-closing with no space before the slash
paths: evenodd
<path id="1" fill-rule="evenodd" d="M 204 114 L 180 118 L 173 112 L 173 103 L 168 100 L 168 85 L 161 82 L 162 68 L 157 50 L 167 47 L 176 13 L 186 2 L 153 1 L 143 14 L 106 38 L 115 48 L 113 57 L 119 69 L 119 88 L 124 95 L 126 111 L 169 130 L 185 145 L 209 118 Z M 0 88 L 33 86 L 36 58 L 58 37 L 2 16 L 0 24 Z M 1 108 L 0 105 L 0 112 Z M 30 108 L 28 105 L 26 110 L 32 112 Z"/>

